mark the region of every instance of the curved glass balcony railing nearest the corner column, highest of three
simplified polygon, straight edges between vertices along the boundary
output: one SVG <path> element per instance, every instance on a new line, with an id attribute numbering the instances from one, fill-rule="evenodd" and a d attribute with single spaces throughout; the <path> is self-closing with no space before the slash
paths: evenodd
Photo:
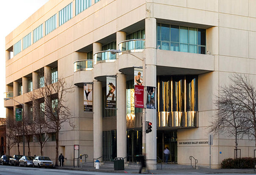
<path id="1" fill-rule="evenodd" d="M 132 39 L 118 44 L 119 50 L 129 52 L 142 52 L 145 49 L 145 39 Z"/>

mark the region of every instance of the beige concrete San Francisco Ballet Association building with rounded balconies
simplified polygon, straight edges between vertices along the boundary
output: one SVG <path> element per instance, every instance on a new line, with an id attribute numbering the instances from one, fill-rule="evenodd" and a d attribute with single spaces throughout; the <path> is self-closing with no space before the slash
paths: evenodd
<path id="1" fill-rule="evenodd" d="M 142 110 L 128 115 L 134 98 L 128 94 L 134 92 L 134 69 L 143 66 L 138 58 L 145 58 L 144 86 L 156 88 L 155 109 L 145 110 L 153 124 L 146 134 L 149 167 L 156 169 L 164 147 L 171 162 L 190 164 L 193 156 L 208 166 L 214 95 L 233 72 L 256 79 L 255 8 L 254 0 L 50 0 L 6 37 L 6 96 L 33 115 L 27 93 L 42 87 L 39 70 L 53 83 L 63 77 L 73 85 L 66 100 L 75 125 L 64 125 L 59 135 L 65 164 L 73 163 L 75 144 L 87 161 L 136 161 Z M 116 79 L 113 109 L 106 107 L 107 77 Z M 93 87 L 93 112 L 84 111 L 84 84 Z M 4 105 L 7 117 L 20 108 L 11 100 Z M 54 158 L 54 145 L 49 139 L 44 155 Z M 31 146 L 31 155 L 39 155 L 39 144 Z M 234 138 L 215 136 L 212 167 L 233 157 L 234 146 Z M 253 141 L 244 138 L 238 147 L 242 157 L 253 156 Z"/>

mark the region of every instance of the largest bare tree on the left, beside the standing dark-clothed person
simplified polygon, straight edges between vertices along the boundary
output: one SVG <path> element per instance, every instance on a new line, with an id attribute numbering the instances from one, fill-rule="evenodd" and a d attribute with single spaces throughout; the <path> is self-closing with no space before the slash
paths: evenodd
<path id="1" fill-rule="evenodd" d="M 55 166 L 58 166 L 59 132 L 64 123 L 68 123 L 72 129 L 74 128 L 70 120 L 71 113 L 66 100 L 68 93 L 72 92 L 72 87 L 68 87 L 63 78 L 58 78 L 58 81 L 52 83 L 50 76 L 46 75 L 44 81 L 44 87 L 34 90 L 34 93 L 31 93 L 29 99 L 35 101 L 44 98 L 44 110 L 42 110 L 42 113 L 47 121 L 48 133 L 56 133 Z M 38 106 L 33 106 L 33 110 L 40 110 L 36 108 Z"/>

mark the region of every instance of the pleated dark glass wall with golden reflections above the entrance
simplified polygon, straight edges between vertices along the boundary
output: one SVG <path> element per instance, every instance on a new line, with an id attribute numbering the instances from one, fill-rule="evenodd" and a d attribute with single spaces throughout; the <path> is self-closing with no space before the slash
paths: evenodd
<path id="1" fill-rule="evenodd" d="M 195 127 L 198 111 L 197 75 L 157 78 L 158 127 Z"/>

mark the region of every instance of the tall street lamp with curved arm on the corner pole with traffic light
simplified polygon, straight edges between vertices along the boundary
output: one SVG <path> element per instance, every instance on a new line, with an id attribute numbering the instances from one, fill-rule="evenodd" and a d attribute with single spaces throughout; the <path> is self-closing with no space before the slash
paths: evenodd
<path id="1" fill-rule="evenodd" d="M 137 57 L 136 55 L 133 55 L 129 52 L 125 52 L 125 51 L 121 51 L 121 50 L 116 50 L 116 49 L 111 49 L 110 50 L 111 54 L 117 54 L 117 53 L 127 53 L 129 55 L 134 56 L 135 58 L 143 61 L 143 83 L 144 85 L 146 84 L 146 60 L 145 57 L 143 59 Z M 145 86 L 144 86 L 145 88 Z M 145 89 L 144 89 L 145 91 Z M 144 106 L 143 106 L 143 110 L 142 110 L 142 154 L 146 154 L 146 110 L 145 110 L 145 93 L 144 93 Z"/>

